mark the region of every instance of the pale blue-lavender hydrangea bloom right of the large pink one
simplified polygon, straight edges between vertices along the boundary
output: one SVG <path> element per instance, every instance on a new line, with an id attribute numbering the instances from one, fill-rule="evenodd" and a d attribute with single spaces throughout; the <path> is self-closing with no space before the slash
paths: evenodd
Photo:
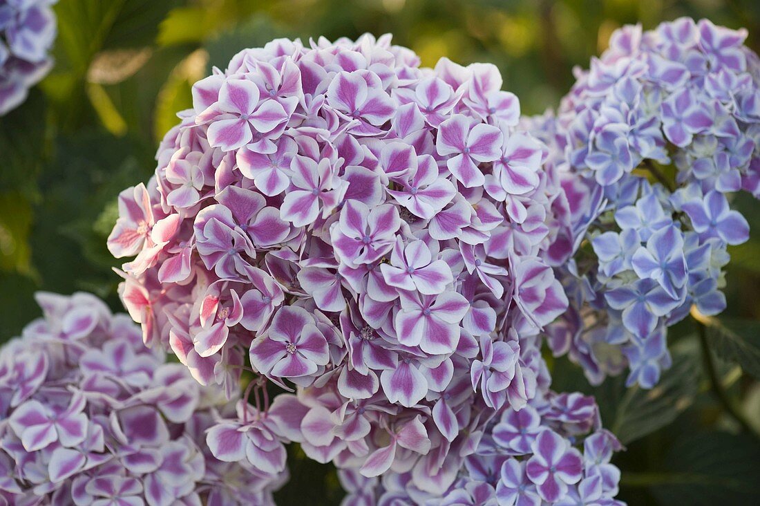
<path id="1" fill-rule="evenodd" d="M 629 384 L 653 387 L 667 327 L 725 308 L 727 246 L 749 237 L 730 194 L 760 196 L 760 61 L 745 37 L 688 18 L 623 27 L 556 119 L 528 122 L 562 173 L 578 249 L 549 344 L 594 382 L 627 364 Z"/>

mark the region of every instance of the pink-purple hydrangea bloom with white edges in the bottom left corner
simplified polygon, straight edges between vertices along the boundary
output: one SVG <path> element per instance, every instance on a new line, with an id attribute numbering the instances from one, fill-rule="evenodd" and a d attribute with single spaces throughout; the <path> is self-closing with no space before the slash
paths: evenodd
<path id="1" fill-rule="evenodd" d="M 90 294 L 40 293 L 0 351 L 0 504 L 274 504 L 287 472 L 211 455 L 216 390 Z"/>

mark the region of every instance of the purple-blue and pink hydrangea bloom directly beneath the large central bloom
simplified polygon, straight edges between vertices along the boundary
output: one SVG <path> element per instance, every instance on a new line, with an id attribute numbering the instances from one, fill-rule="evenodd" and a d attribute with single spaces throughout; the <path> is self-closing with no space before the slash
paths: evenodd
<path id="1" fill-rule="evenodd" d="M 460 378 L 458 383 L 456 393 L 442 396 L 454 408 L 470 402 L 469 380 Z M 295 403 L 291 408 L 298 413 L 293 418 L 302 420 L 299 441 L 312 455 L 315 450 L 329 455 L 350 447 L 378 417 L 377 409 L 365 409 L 366 403 L 337 406 L 335 390 L 306 393 L 300 411 Z M 594 399 L 553 393 L 544 386 L 521 409 L 505 405 L 494 412 L 481 407 L 467 407 L 469 434 L 451 444 L 441 441 L 424 415 L 397 412 L 385 431 L 366 439 L 372 448 L 382 445 L 369 459 L 339 453 L 338 476 L 347 491 L 343 504 L 623 504 L 614 499 L 620 473 L 610 464 L 621 446 L 600 428 Z M 334 409 L 331 418 L 325 412 L 329 409 Z M 463 411 L 458 410 L 458 418 Z M 348 416 L 341 421 L 343 412 Z"/>

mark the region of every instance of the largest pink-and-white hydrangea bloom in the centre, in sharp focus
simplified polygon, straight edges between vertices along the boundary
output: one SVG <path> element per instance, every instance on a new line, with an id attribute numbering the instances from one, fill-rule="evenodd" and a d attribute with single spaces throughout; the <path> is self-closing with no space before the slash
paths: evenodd
<path id="1" fill-rule="evenodd" d="M 230 396 L 255 375 L 217 457 L 280 469 L 295 441 L 441 495 L 546 390 L 572 213 L 501 86 L 369 35 L 274 40 L 195 84 L 108 244 L 148 345 Z"/>

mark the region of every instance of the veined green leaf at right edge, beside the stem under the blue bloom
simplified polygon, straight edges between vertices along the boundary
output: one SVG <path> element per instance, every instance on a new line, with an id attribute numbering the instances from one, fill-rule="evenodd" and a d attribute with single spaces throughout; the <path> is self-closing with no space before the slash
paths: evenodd
<path id="1" fill-rule="evenodd" d="M 760 322 L 730 318 L 705 318 L 708 344 L 715 355 L 739 364 L 760 379 Z"/>

